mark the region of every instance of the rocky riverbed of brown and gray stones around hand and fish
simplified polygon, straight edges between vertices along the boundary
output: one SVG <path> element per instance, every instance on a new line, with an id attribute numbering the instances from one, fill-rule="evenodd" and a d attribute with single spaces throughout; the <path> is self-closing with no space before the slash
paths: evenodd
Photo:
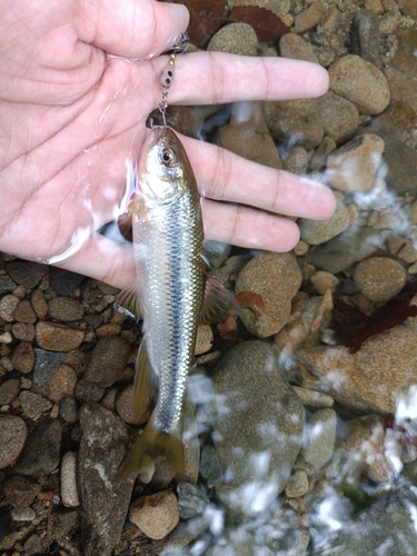
<path id="1" fill-rule="evenodd" d="M 417 3 L 234 6 L 289 32 L 231 23 L 208 50 L 320 63 L 329 92 L 169 119 L 329 185 L 336 214 L 300 219 L 290 254 L 207 246 L 245 308 L 199 329 L 181 485 L 163 461 L 117 480 L 152 409 L 132 416 L 118 290 L 0 256 L 1 556 L 415 554 Z"/>

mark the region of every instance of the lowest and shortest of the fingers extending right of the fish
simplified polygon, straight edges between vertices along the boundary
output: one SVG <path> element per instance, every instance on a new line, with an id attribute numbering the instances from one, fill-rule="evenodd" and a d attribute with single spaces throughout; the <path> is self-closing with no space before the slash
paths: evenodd
<path id="1" fill-rule="evenodd" d="M 289 251 L 299 240 L 298 226 L 269 212 L 205 199 L 202 221 L 207 239 L 251 249 Z"/>

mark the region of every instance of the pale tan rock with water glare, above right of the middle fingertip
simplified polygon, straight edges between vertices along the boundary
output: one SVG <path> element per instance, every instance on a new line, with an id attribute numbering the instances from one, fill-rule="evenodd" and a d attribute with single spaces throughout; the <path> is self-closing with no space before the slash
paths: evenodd
<path id="1" fill-rule="evenodd" d="M 327 158 L 328 179 L 339 191 L 369 191 L 381 163 L 384 141 L 364 133 L 356 137 Z"/>

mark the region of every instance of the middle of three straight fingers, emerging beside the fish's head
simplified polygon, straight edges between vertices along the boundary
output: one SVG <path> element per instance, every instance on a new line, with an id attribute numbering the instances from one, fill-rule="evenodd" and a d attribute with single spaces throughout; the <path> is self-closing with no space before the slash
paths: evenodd
<path id="1" fill-rule="evenodd" d="M 336 208 L 331 190 L 285 170 L 245 160 L 215 145 L 181 136 L 200 191 L 287 216 L 326 220 Z"/>

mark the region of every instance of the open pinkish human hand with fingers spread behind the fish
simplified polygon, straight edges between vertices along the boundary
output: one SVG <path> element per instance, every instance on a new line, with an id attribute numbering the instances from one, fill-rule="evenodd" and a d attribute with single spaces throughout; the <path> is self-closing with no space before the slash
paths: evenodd
<path id="1" fill-rule="evenodd" d="M 9 0 L 2 13 L 0 250 L 59 260 L 125 287 L 135 277 L 131 247 L 96 230 L 117 216 L 126 161 L 139 157 L 147 116 L 161 98 L 167 57 L 157 54 L 187 29 L 188 12 L 155 0 Z M 108 52 L 152 57 L 128 63 L 108 60 Z M 171 105 L 284 100 L 320 96 L 327 87 L 316 64 L 196 52 L 177 58 L 168 98 Z M 182 140 L 211 199 L 203 206 L 207 238 L 284 251 L 298 241 L 298 228 L 274 214 L 326 219 L 334 211 L 324 186 Z"/>

